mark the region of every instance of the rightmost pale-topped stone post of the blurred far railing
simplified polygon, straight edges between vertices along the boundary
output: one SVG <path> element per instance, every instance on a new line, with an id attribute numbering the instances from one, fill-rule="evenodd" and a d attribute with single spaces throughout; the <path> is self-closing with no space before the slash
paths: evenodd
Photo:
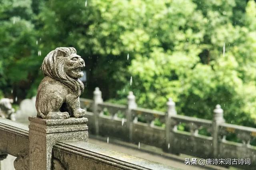
<path id="1" fill-rule="evenodd" d="M 218 144 L 218 128 L 221 123 L 225 122 L 225 119 L 223 117 L 223 109 L 220 107 L 219 104 L 216 105 L 216 108 L 213 112 L 214 117 L 212 121 L 212 149 L 214 158 L 218 158 L 220 152 Z"/>

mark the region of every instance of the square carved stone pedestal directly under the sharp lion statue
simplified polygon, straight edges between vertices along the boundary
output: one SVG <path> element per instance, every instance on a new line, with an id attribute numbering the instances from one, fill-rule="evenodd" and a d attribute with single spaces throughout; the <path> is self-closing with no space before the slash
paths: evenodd
<path id="1" fill-rule="evenodd" d="M 30 170 L 52 168 L 52 147 L 58 141 L 88 141 L 87 118 L 41 119 L 29 117 Z"/>

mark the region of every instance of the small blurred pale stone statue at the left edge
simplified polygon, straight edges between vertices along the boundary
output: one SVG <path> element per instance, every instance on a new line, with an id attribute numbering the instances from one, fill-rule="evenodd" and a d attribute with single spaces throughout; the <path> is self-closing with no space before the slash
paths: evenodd
<path id="1" fill-rule="evenodd" d="M 15 110 L 12 108 L 13 99 L 0 99 L 0 117 L 15 120 Z"/>

